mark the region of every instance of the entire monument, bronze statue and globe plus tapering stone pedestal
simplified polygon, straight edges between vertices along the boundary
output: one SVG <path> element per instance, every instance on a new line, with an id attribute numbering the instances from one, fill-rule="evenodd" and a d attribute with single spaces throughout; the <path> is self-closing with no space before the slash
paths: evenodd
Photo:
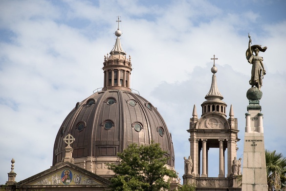
<path id="1" fill-rule="evenodd" d="M 243 148 L 243 172 L 242 172 L 242 191 L 267 191 L 266 161 L 264 149 L 263 114 L 259 104 L 262 98 L 262 79 L 266 74 L 262 57 L 259 52 L 264 52 L 267 47 L 252 45 L 249 37 L 246 59 L 253 66 L 246 97 L 249 100 L 246 115 L 246 127 L 244 133 Z M 253 55 L 255 53 L 255 55 Z M 262 70 L 262 71 L 261 71 Z"/>

